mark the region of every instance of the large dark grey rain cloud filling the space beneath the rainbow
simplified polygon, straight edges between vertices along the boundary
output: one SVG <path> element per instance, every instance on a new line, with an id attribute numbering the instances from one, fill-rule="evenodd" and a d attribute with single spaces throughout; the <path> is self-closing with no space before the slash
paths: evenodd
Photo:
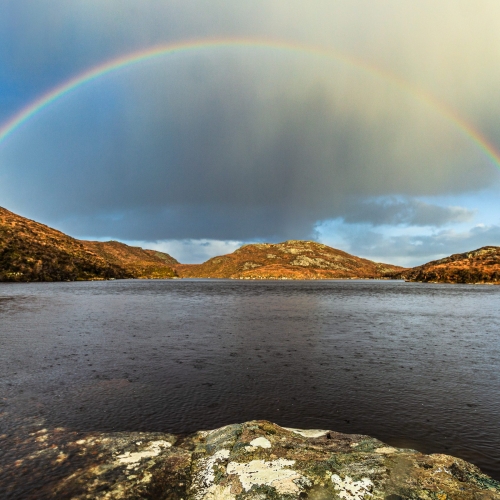
<path id="1" fill-rule="evenodd" d="M 11 139 L 2 195 L 78 233 L 248 240 L 309 237 L 363 197 L 489 184 L 490 165 L 454 130 L 432 113 L 424 129 L 408 119 L 426 115 L 419 103 L 330 71 L 232 49 L 110 75 Z M 411 210 L 417 223 L 432 215 Z M 437 212 L 438 224 L 453 215 Z"/>

